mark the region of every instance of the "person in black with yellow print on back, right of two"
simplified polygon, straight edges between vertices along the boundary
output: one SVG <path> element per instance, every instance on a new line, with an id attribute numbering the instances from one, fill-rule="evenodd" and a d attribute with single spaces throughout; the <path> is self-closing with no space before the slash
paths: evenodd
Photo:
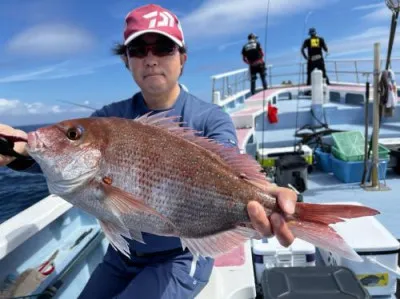
<path id="1" fill-rule="evenodd" d="M 326 75 L 325 62 L 322 50 L 328 55 L 328 47 L 326 46 L 325 40 L 317 36 L 315 28 L 310 28 L 308 31 L 310 38 L 304 40 L 303 47 L 301 48 L 301 54 L 304 59 L 307 60 L 307 85 L 311 85 L 311 72 L 318 68 L 322 71 L 323 77 L 326 79 L 326 84 L 329 85 L 329 78 Z M 308 50 L 308 55 L 305 53 L 305 49 Z"/>

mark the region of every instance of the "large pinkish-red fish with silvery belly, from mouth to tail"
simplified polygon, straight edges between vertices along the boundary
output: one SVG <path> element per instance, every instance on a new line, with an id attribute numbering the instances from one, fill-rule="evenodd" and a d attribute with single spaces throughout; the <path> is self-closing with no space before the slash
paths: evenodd
<path id="1" fill-rule="evenodd" d="M 142 232 L 179 237 L 193 254 L 211 257 L 259 238 L 247 203 L 260 202 L 267 215 L 280 211 L 261 166 L 176 120 L 165 113 L 68 120 L 29 133 L 28 151 L 49 191 L 94 215 L 127 256 L 122 236 L 143 242 Z M 377 213 L 297 203 L 283 216 L 296 237 L 360 261 L 329 224 Z"/>

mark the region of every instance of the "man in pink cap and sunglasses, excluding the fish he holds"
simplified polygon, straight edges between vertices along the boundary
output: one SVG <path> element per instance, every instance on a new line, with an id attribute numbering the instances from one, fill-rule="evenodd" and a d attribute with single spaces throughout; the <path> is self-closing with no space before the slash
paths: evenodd
<path id="1" fill-rule="evenodd" d="M 165 8 L 149 4 L 131 11 L 125 22 L 124 42 L 114 50 L 140 92 L 111 103 L 92 116 L 133 119 L 148 112 L 169 110 L 169 115 L 181 116 L 185 124 L 203 132 L 203 136 L 236 147 L 236 131 L 229 115 L 219 106 L 188 93 L 178 83 L 187 58 L 178 18 Z M 0 133 L 26 136 L 5 125 L 0 125 Z M 27 155 L 21 142 L 15 143 L 14 149 Z M 0 155 L 0 165 L 7 164 L 15 170 L 40 171 L 33 160 Z M 294 192 L 271 186 L 271 195 L 278 198 L 285 212 L 294 212 L 297 199 Z M 288 246 L 293 242 L 293 235 L 280 215 L 272 215 L 270 222 L 256 202 L 249 203 L 248 212 L 253 226 L 262 235 L 272 236 L 273 231 L 281 244 Z M 130 258 L 109 246 L 79 298 L 186 299 L 199 294 L 210 278 L 213 259 L 195 259 L 191 252 L 182 249 L 176 237 L 143 233 L 143 240 L 146 244 L 129 241 Z"/>

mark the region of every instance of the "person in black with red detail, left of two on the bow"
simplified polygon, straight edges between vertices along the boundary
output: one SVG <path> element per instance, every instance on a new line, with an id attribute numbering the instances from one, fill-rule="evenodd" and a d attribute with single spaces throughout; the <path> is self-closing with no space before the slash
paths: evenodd
<path id="1" fill-rule="evenodd" d="M 260 74 L 264 90 L 267 89 L 267 81 L 265 80 L 266 70 L 264 52 L 260 43 L 257 41 L 256 35 L 250 33 L 247 39 L 248 42 L 243 46 L 242 49 L 242 58 L 243 61 L 250 66 L 251 94 L 255 94 L 257 73 Z"/>

